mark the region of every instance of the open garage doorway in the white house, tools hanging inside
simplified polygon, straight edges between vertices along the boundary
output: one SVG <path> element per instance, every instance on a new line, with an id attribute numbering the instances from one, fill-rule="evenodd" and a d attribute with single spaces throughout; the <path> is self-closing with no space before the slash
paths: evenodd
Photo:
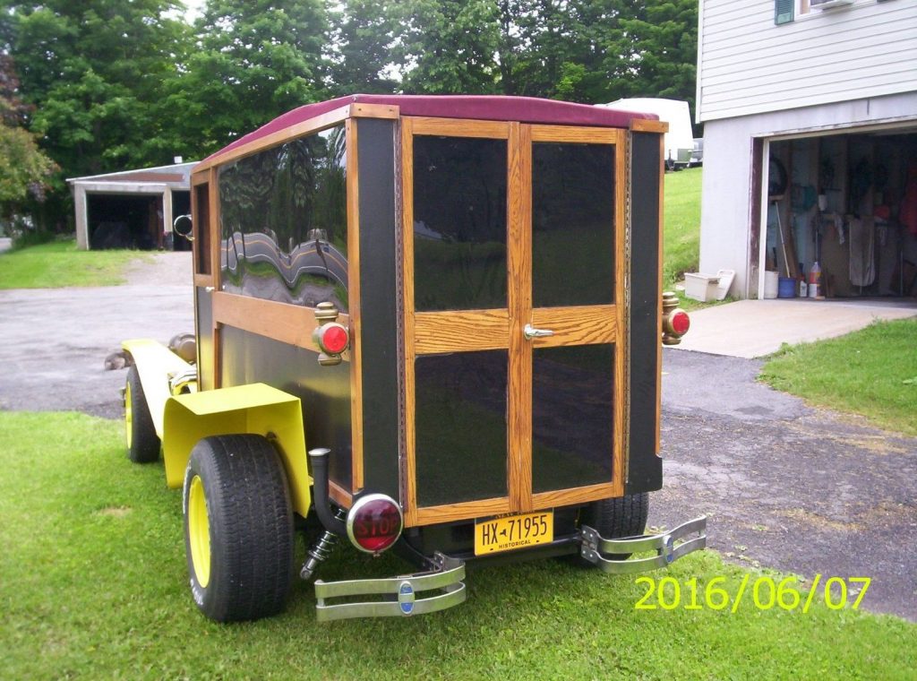
<path id="1" fill-rule="evenodd" d="M 820 297 L 917 294 L 917 131 L 772 141 L 763 162 L 766 271 L 797 296 L 815 262 Z"/>

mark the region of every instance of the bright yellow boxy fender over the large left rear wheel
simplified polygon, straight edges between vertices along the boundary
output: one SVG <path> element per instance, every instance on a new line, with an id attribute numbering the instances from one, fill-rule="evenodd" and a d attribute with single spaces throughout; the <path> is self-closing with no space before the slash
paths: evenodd
<path id="1" fill-rule="evenodd" d="M 146 385 L 144 385 L 146 390 Z M 301 516 L 312 501 L 299 397 L 263 383 L 237 385 L 171 397 L 165 405 L 162 458 L 166 483 L 181 487 L 191 450 L 211 435 L 255 433 L 270 436 L 281 455 L 293 510 Z"/>

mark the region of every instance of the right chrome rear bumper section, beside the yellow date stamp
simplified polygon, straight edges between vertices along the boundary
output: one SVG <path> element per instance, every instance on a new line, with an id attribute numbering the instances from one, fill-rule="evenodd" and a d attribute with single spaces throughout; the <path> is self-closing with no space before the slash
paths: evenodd
<path id="1" fill-rule="evenodd" d="M 685 540 L 678 546 L 675 545 L 676 540 L 684 540 L 691 534 L 698 536 Z M 596 530 L 583 525 L 580 529 L 580 541 L 580 555 L 590 563 L 598 565 L 603 572 L 614 574 L 643 572 L 665 567 L 683 555 L 704 548 L 707 545 L 707 517 L 701 516 L 689 520 L 668 532 L 627 539 L 603 539 Z M 634 560 L 619 560 L 602 555 L 642 551 L 655 551 L 657 554 L 649 558 L 635 558 Z"/>

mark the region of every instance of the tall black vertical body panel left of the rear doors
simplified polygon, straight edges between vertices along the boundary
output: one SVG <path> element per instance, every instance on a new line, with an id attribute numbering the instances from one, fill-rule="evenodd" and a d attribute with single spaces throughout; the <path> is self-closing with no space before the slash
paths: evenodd
<path id="1" fill-rule="evenodd" d="M 356 123 L 363 479 L 367 489 L 399 498 L 402 362 L 398 356 L 395 130 L 391 120 L 361 118 Z"/>

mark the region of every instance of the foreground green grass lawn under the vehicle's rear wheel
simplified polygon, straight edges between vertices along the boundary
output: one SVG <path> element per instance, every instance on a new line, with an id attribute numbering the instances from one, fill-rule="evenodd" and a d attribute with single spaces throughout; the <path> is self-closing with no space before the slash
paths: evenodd
<path id="1" fill-rule="evenodd" d="M 0 469 L 3 678 L 913 677 L 904 620 L 750 598 L 735 614 L 636 610 L 635 576 L 557 561 L 471 571 L 468 602 L 425 617 L 319 625 L 297 583 L 282 616 L 219 625 L 187 587 L 181 494 L 127 462 L 120 423 L 0 412 Z M 320 576 L 405 569 L 339 548 Z M 746 574 L 708 551 L 654 576 L 723 575 L 735 594 Z"/>

